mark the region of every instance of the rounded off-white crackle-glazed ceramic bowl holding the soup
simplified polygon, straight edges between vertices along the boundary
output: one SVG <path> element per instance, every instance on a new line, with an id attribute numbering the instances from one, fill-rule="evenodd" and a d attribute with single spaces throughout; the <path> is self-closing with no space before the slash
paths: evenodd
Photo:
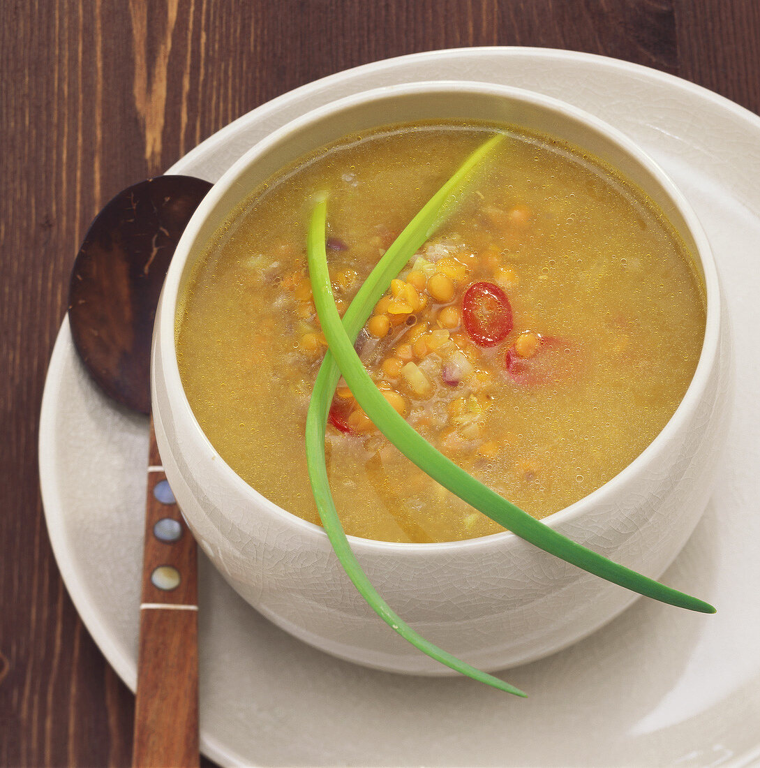
<path id="1" fill-rule="evenodd" d="M 676 413 L 623 472 L 551 515 L 547 525 L 659 578 L 705 508 L 730 405 L 728 324 L 705 234 L 663 170 L 623 134 L 590 114 L 496 84 L 415 83 L 335 101 L 256 144 L 196 211 L 161 296 L 151 380 L 164 468 L 201 548 L 246 601 L 286 631 L 331 654 L 411 674 L 451 670 L 415 650 L 375 616 L 343 573 L 322 528 L 269 502 L 223 462 L 184 394 L 174 329 L 177 295 L 193 263 L 250 190 L 279 168 L 349 132 L 441 118 L 544 131 L 619 168 L 663 208 L 704 276 L 705 341 Z M 610 621 L 636 599 L 506 531 L 429 545 L 349 539 L 369 578 L 409 624 L 486 670 L 553 653 Z M 678 608 L 663 606 L 663 611 L 672 611 L 678 620 Z"/>

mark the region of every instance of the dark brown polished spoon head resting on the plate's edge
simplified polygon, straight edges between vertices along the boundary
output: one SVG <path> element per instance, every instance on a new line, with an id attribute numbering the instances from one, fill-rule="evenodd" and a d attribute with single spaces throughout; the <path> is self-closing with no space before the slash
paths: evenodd
<path id="1" fill-rule="evenodd" d="M 117 194 L 97 214 L 71 270 L 74 346 L 97 385 L 150 413 L 150 343 L 174 249 L 211 184 L 158 176 Z"/>

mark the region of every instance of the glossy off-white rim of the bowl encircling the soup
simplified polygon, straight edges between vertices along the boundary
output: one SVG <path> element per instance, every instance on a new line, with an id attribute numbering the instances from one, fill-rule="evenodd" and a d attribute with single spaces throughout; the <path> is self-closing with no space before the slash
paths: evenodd
<path id="1" fill-rule="evenodd" d="M 190 402 L 187 400 L 177 364 L 177 347 L 175 324 L 177 317 L 177 297 L 183 273 L 187 267 L 187 259 L 193 248 L 200 229 L 203 227 L 207 216 L 213 212 L 216 205 L 227 193 L 230 187 L 236 183 L 237 178 L 243 174 L 248 167 L 255 163 L 257 159 L 266 152 L 270 151 L 280 141 L 284 141 L 291 134 L 305 131 L 312 124 L 316 124 L 325 118 L 330 118 L 343 111 L 349 111 L 352 108 L 362 104 L 381 101 L 383 99 L 399 98 L 409 94 L 418 93 L 440 93 L 440 94 L 461 94 L 469 92 L 491 96 L 494 98 L 504 98 L 507 100 L 520 101 L 530 104 L 537 108 L 543 108 L 547 111 L 553 111 L 560 114 L 563 118 L 570 118 L 571 121 L 582 123 L 591 132 L 601 134 L 606 140 L 612 141 L 617 147 L 632 157 L 636 163 L 643 166 L 646 172 L 653 177 L 656 184 L 663 190 L 666 197 L 678 211 L 682 220 L 686 224 L 696 246 L 696 252 L 692 254 L 702 268 L 702 276 L 705 282 L 705 333 L 702 339 L 702 349 L 699 353 L 699 360 L 692 376 L 689 386 L 684 396 L 672 413 L 666 425 L 658 432 L 652 442 L 636 458 L 633 459 L 616 475 L 607 480 L 599 488 L 590 492 L 577 502 L 567 507 L 553 512 L 551 515 L 542 518 L 545 525 L 550 528 L 558 528 L 567 523 L 577 521 L 584 512 L 589 511 L 596 505 L 609 504 L 620 490 L 625 488 L 630 482 L 635 481 L 636 477 L 643 472 L 650 462 L 656 461 L 657 455 L 666 449 L 666 446 L 676 435 L 679 428 L 696 411 L 699 403 L 702 401 L 703 392 L 709 382 L 712 370 L 715 365 L 719 349 L 719 340 L 721 335 L 722 323 L 722 297 L 719 288 L 719 280 L 715 260 L 712 256 L 712 249 L 709 246 L 709 240 L 702 229 L 699 219 L 692 210 L 691 205 L 683 196 L 676 184 L 670 179 L 662 167 L 659 166 L 653 158 L 647 154 L 638 144 L 633 142 L 626 134 L 616 127 L 606 123 L 606 121 L 596 118 L 595 115 L 567 104 L 560 99 L 546 96 L 525 88 L 516 88 L 514 86 L 501 85 L 496 83 L 487 83 L 481 81 L 467 80 L 441 80 L 441 81 L 415 81 L 404 84 L 385 85 L 379 88 L 372 88 L 368 91 L 361 91 L 358 94 L 352 94 L 328 104 L 309 110 L 305 114 L 287 122 L 282 127 L 277 128 L 271 134 L 263 137 L 260 141 L 253 144 L 242 156 L 240 156 L 224 172 L 219 180 L 213 184 L 213 187 L 203 198 L 200 205 L 187 224 L 180 241 L 177 244 L 174 256 L 170 262 L 167 277 L 164 282 L 164 288 L 161 292 L 159 312 L 157 313 L 157 323 L 154 329 L 153 351 L 151 355 L 150 379 L 151 387 L 154 389 L 153 402 L 157 402 L 155 397 L 155 381 L 157 367 L 157 349 L 160 347 L 160 360 L 164 376 L 164 386 L 167 392 L 171 393 L 172 409 L 176 413 L 180 411 L 186 419 L 190 419 L 194 436 L 199 440 L 203 447 L 211 452 L 213 465 L 221 472 L 226 482 L 230 482 L 243 497 L 248 497 L 252 504 L 263 505 L 270 514 L 288 524 L 299 528 L 303 533 L 325 539 L 327 535 L 321 525 L 306 521 L 298 515 L 280 507 L 276 503 L 266 498 L 258 492 L 256 488 L 249 485 L 238 475 L 233 468 L 228 465 L 216 448 L 210 442 L 205 432 L 197 421 Z M 378 127 L 380 127 L 378 125 Z M 242 198 L 241 198 L 242 200 Z M 227 211 L 229 215 L 230 210 Z M 167 339 L 170 343 L 167 344 Z M 168 350 L 168 354 L 167 354 Z M 177 416 L 175 415 L 175 419 Z M 352 548 L 356 551 L 372 552 L 377 554 L 397 554 L 413 555 L 425 552 L 441 554 L 449 553 L 452 550 L 461 553 L 465 550 L 491 548 L 501 545 L 504 541 L 514 540 L 522 541 L 512 531 L 499 531 L 494 534 L 480 536 L 477 538 L 468 538 L 461 541 L 439 541 L 432 543 L 415 542 L 396 542 L 379 541 L 376 539 L 362 538 L 355 535 L 347 535 Z"/>

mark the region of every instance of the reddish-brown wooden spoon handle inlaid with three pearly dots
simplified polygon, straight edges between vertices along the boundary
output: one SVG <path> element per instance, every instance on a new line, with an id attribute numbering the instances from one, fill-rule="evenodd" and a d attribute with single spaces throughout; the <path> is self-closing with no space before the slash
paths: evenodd
<path id="1" fill-rule="evenodd" d="M 195 539 L 164 475 L 150 419 L 132 765 L 198 766 Z"/>

